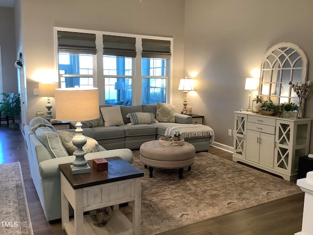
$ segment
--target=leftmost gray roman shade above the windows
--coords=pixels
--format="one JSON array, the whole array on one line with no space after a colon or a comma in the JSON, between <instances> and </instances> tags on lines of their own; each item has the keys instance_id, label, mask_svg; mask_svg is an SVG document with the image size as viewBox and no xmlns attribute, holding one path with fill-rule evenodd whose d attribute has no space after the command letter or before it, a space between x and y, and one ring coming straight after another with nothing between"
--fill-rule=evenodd
<instances>
[{"instance_id":1,"label":"leftmost gray roman shade above the windows","mask_svg":"<svg viewBox=\"0 0 313 235\"><path fill-rule=\"evenodd\" d=\"M73 54L96 54L96 35L58 31L58 50Z\"/></svg>"}]
</instances>

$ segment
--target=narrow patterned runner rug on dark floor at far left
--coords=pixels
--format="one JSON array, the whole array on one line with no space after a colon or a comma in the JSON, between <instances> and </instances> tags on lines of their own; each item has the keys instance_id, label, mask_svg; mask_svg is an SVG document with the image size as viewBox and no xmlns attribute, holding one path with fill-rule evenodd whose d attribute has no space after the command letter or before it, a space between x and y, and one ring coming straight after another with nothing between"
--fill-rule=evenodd
<instances>
[{"instance_id":1,"label":"narrow patterned runner rug on dark floor at far left","mask_svg":"<svg viewBox=\"0 0 313 235\"><path fill-rule=\"evenodd\" d=\"M0 234L33 235L19 162L0 164Z\"/></svg>"}]
</instances>

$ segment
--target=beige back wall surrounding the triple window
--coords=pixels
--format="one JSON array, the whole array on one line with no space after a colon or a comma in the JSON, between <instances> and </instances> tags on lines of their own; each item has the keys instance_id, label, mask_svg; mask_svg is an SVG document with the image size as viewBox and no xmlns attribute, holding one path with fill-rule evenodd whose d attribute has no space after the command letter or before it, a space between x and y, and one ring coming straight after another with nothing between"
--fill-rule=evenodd
<instances>
[{"instance_id":1,"label":"beige back wall surrounding the triple window","mask_svg":"<svg viewBox=\"0 0 313 235\"><path fill-rule=\"evenodd\" d=\"M54 26L173 37L174 87L183 75L183 0L29 0L22 1L22 15L29 120L36 111L45 111L46 99L33 94L38 71L51 71L58 79L53 73ZM174 97L177 93L175 89ZM174 98L173 104L179 106L180 97L178 101Z\"/></svg>"}]
</instances>

